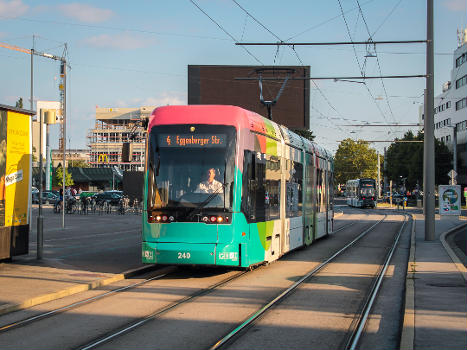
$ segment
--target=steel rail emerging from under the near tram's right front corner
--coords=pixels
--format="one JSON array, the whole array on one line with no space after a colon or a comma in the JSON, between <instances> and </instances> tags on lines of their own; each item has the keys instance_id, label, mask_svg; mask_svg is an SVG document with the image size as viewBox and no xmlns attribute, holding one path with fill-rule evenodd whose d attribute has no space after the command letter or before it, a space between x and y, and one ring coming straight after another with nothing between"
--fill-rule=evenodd
<instances>
[{"instance_id":1,"label":"steel rail emerging from under the near tram's right front corner","mask_svg":"<svg viewBox=\"0 0 467 350\"><path fill-rule=\"evenodd\" d=\"M210 287L207 287L207 288L203 288L201 289L200 291L196 292L196 293L193 293L179 301L176 301L172 304L169 304L165 307L163 307L162 309L159 309L143 318L141 318L139 321L136 321L136 322L133 322L133 323L130 323L129 325L126 325L125 327L123 328L120 328L118 329L117 331L115 331L115 333L111 333L105 337L101 337L101 338L98 338L96 340L93 340L92 342L89 342L88 344L84 345L84 346L81 346L79 347L78 349L79 350L89 350L89 349L94 349L95 347L99 346L99 345L102 345L104 343L107 343L109 342L110 340L120 336L120 335L123 335L125 333L128 333L129 331L137 328L137 327L140 327L142 325L144 325L145 323L149 322L149 321L152 321L153 319L155 319L156 317L170 311L170 310L173 310L175 308L177 308L178 306L180 305L183 305L185 304L186 302L190 301L190 300L193 300L197 297L200 297L200 296L203 296L209 292L211 292L212 290L232 281L232 280L235 280L241 276L243 276L244 274L248 273L249 271L242 271L240 273L237 273L235 274L234 276L231 276L229 278L226 278L224 279L223 281L220 281L220 282L217 282L215 284L213 284L212 286Z\"/></svg>"}]
</instances>

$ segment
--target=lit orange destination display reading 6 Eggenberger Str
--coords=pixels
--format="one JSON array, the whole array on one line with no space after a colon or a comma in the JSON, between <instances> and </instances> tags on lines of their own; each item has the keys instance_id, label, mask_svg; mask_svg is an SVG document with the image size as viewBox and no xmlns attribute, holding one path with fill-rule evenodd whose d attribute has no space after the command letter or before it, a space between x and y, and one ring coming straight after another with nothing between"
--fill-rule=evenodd
<instances>
[{"instance_id":1,"label":"lit orange destination display reading 6 Eggenberger Str","mask_svg":"<svg viewBox=\"0 0 467 350\"><path fill-rule=\"evenodd\" d=\"M159 134L160 147L170 148L225 148L226 134Z\"/></svg>"}]
</instances>

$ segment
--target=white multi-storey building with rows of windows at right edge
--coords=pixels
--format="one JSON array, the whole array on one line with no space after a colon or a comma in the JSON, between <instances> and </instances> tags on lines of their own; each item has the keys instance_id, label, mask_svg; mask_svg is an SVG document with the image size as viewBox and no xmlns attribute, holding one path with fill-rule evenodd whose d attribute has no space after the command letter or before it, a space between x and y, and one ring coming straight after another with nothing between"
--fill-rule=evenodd
<instances>
[{"instance_id":1,"label":"white multi-storey building with rows of windows at right edge","mask_svg":"<svg viewBox=\"0 0 467 350\"><path fill-rule=\"evenodd\" d=\"M458 32L454 50L451 80L443 84L443 92L434 99L435 138L452 151L454 132L457 137L457 183L467 184L467 29ZM423 107L421 108L423 124ZM449 169L447 169L449 170Z\"/></svg>"}]
</instances>

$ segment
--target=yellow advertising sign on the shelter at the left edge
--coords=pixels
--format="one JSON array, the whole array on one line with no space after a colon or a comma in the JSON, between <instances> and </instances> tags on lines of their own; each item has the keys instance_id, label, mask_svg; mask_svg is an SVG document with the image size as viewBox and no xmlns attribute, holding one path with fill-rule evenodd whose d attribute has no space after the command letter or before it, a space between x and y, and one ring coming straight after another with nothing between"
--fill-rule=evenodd
<instances>
[{"instance_id":1,"label":"yellow advertising sign on the shelter at the left edge","mask_svg":"<svg viewBox=\"0 0 467 350\"><path fill-rule=\"evenodd\" d=\"M5 171L5 226L27 225L30 116L8 111Z\"/></svg>"}]
</instances>

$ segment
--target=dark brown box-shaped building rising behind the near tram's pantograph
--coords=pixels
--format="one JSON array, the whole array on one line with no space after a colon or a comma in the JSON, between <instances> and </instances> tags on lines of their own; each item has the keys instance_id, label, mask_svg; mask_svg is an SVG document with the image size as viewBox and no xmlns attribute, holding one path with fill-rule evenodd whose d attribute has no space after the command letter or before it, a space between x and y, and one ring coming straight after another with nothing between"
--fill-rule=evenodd
<instances>
[{"instance_id":1,"label":"dark brown box-shaped building rising behind the near tram's pantograph","mask_svg":"<svg viewBox=\"0 0 467 350\"><path fill-rule=\"evenodd\" d=\"M243 107L267 118L267 108L260 102L257 69L268 69L263 81L266 101L276 98L285 78L284 69L293 70L276 105L272 120L291 129L310 127L310 66L188 66L188 104L221 104ZM282 69L282 71L281 71Z\"/></svg>"}]
</instances>

